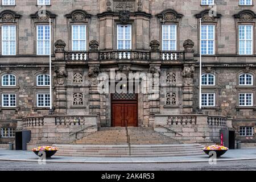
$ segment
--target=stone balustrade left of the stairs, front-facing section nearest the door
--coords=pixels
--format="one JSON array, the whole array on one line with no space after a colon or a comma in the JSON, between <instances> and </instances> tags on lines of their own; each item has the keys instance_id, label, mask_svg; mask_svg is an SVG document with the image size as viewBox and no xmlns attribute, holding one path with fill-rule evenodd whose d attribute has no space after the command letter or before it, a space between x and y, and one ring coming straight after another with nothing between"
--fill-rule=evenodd
<instances>
[{"instance_id":1,"label":"stone balustrade left of the stairs, front-facing section nearest the door","mask_svg":"<svg viewBox=\"0 0 256 182\"><path fill-rule=\"evenodd\" d=\"M85 125L88 123L86 115L56 115L55 125Z\"/></svg>"}]
</instances>

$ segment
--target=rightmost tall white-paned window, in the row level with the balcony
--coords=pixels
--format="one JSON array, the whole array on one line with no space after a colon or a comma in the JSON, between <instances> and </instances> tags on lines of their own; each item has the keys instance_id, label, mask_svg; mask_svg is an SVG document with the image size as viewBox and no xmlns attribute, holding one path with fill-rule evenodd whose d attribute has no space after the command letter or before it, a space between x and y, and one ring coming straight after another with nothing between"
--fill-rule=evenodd
<instances>
[{"instance_id":1,"label":"rightmost tall white-paned window, in the row level with the balcony","mask_svg":"<svg viewBox=\"0 0 256 182\"><path fill-rule=\"evenodd\" d=\"M240 25L238 26L239 36L239 54L252 55L253 54L253 26Z\"/></svg>"}]
</instances>

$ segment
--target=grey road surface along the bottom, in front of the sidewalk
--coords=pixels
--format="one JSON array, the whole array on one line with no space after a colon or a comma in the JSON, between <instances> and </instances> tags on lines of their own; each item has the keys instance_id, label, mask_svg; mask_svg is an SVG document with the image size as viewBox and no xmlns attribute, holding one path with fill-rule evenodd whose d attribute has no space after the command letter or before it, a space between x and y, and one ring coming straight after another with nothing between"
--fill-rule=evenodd
<instances>
[{"instance_id":1,"label":"grey road surface along the bottom, in front of the sidewalk","mask_svg":"<svg viewBox=\"0 0 256 182\"><path fill-rule=\"evenodd\" d=\"M188 171L188 170L256 170L256 160L239 160L228 162L217 162L216 165L204 163L171 163L171 164L65 164L65 163L46 163L38 164L35 162L9 162L0 161L0 171L3 170L68 170L68 171L108 171L108 170L174 170L174 171Z\"/></svg>"}]
</instances>

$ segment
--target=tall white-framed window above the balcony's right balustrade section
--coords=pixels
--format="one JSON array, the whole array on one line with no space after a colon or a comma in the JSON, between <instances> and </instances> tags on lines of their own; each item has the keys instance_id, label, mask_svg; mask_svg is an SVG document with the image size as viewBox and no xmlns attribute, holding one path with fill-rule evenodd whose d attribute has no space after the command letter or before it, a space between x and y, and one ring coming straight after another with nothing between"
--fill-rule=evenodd
<instances>
[{"instance_id":1,"label":"tall white-framed window above the balcony's right balustrade section","mask_svg":"<svg viewBox=\"0 0 256 182\"><path fill-rule=\"evenodd\" d=\"M176 51L177 49L177 26L176 24L162 25L163 51Z\"/></svg>"}]
</instances>

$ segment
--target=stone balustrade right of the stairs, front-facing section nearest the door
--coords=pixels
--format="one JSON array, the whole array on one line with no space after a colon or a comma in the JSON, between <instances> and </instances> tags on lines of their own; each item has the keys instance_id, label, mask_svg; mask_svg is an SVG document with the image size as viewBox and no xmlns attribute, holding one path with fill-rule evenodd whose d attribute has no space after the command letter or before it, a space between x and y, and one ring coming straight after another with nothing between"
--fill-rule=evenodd
<instances>
[{"instance_id":1,"label":"stone balustrade right of the stairs, front-facing section nearest the door","mask_svg":"<svg viewBox=\"0 0 256 182\"><path fill-rule=\"evenodd\" d=\"M167 125L196 125L196 115L169 115Z\"/></svg>"}]
</instances>

